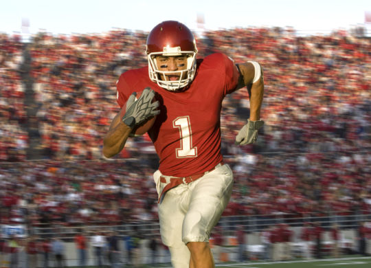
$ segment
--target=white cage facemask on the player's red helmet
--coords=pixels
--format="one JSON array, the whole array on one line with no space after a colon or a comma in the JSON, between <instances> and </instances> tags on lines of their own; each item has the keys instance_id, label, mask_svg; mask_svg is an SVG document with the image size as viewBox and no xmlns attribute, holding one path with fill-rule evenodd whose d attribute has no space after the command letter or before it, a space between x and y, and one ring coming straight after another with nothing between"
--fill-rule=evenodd
<instances>
[{"instance_id":1,"label":"white cage facemask on the player's red helmet","mask_svg":"<svg viewBox=\"0 0 371 268\"><path fill-rule=\"evenodd\" d=\"M164 47L163 52L153 52L148 54L148 71L150 80L156 82L157 85L169 91L177 91L186 87L192 82L196 73L196 53L197 51L181 51L181 47ZM186 69L179 71L160 71L157 67L157 56L187 56ZM168 80L166 75L177 74L178 80ZM164 78L164 79L161 79Z\"/></svg>"}]
</instances>

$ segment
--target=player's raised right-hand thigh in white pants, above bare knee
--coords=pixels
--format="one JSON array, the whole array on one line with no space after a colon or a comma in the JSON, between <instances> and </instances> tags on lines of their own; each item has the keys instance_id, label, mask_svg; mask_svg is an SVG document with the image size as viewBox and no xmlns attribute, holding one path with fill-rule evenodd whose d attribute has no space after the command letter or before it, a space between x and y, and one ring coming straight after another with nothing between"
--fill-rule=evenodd
<instances>
[{"instance_id":1,"label":"player's raised right-hand thigh in white pants, above bare knee","mask_svg":"<svg viewBox=\"0 0 371 268\"><path fill-rule=\"evenodd\" d=\"M195 182L183 222L184 243L209 241L232 194L232 170L223 165Z\"/></svg>"}]
</instances>

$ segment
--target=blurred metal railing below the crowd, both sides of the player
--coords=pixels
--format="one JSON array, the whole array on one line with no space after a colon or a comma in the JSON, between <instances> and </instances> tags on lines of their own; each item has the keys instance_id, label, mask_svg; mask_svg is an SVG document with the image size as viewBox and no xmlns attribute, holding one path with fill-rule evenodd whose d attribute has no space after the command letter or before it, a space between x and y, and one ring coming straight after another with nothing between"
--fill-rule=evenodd
<instances>
[{"instance_id":1,"label":"blurred metal railing below the crowd, both sides of the player","mask_svg":"<svg viewBox=\"0 0 371 268\"><path fill-rule=\"evenodd\" d=\"M350 213L350 212L349 212ZM218 225L223 228L225 235L233 235L238 225L243 225L245 232L261 232L267 227L286 223L290 227L302 227L304 223L321 223L322 227L330 228L333 223L342 229L355 229L361 221L371 221L371 214L347 214L340 212L339 214L331 213L322 216L295 216L294 214L275 214L275 215L252 215L252 216L223 216ZM142 236L150 237L159 234L158 221L138 221L132 223L122 223L120 225L76 225L65 226L59 224L38 225L30 227L29 233L35 234L40 238L44 237L60 237L63 240L69 241L74 236L83 230L87 236L102 232L108 233L115 231L120 236L133 234L137 232Z\"/></svg>"}]
</instances>

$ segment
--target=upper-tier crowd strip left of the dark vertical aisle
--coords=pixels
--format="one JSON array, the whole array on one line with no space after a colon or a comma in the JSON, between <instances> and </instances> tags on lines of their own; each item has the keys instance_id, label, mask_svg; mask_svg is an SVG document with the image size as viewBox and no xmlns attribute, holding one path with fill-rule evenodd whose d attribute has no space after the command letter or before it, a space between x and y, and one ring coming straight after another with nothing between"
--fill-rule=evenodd
<instances>
[{"instance_id":1,"label":"upper-tier crowd strip left of the dark vertical aisle","mask_svg":"<svg viewBox=\"0 0 371 268\"><path fill-rule=\"evenodd\" d=\"M26 159L28 133L20 36L0 34L0 161Z\"/></svg>"}]
</instances>

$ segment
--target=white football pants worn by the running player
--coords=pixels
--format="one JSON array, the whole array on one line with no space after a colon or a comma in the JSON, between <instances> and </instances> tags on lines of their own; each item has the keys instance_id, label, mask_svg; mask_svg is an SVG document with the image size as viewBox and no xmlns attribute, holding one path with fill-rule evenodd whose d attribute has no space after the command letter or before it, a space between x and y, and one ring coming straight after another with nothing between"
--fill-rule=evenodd
<instances>
[{"instance_id":1,"label":"white football pants worn by the running player","mask_svg":"<svg viewBox=\"0 0 371 268\"><path fill-rule=\"evenodd\" d=\"M153 177L159 187L161 172ZM190 251L188 242L208 242L212 228L218 223L232 194L233 174L227 164L191 183L177 186L166 192L159 203L161 238L168 246L172 266L188 268Z\"/></svg>"}]
</instances>

